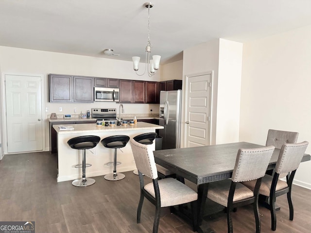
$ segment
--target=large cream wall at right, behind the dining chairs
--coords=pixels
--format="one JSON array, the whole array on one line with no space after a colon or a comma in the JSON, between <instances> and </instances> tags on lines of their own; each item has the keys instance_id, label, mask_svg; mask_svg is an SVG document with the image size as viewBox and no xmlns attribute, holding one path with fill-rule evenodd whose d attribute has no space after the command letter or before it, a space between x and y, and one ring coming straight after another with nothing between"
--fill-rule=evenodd
<instances>
[{"instance_id":1,"label":"large cream wall at right, behind the dining chairs","mask_svg":"<svg viewBox=\"0 0 311 233\"><path fill-rule=\"evenodd\" d=\"M311 26L243 45L240 141L264 145L276 129L311 143L310 41ZM302 163L294 183L311 188L310 170Z\"/></svg>"}]
</instances>

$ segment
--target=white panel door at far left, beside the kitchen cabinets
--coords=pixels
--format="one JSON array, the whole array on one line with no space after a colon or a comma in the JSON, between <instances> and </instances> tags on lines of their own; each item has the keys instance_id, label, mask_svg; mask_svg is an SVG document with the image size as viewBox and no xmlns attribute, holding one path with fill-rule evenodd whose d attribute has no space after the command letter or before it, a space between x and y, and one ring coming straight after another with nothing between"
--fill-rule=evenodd
<instances>
[{"instance_id":1,"label":"white panel door at far left, beside the kitchen cabinets","mask_svg":"<svg viewBox=\"0 0 311 233\"><path fill-rule=\"evenodd\" d=\"M42 150L41 77L5 75L8 153Z\"/></svg>"}]
</instances>

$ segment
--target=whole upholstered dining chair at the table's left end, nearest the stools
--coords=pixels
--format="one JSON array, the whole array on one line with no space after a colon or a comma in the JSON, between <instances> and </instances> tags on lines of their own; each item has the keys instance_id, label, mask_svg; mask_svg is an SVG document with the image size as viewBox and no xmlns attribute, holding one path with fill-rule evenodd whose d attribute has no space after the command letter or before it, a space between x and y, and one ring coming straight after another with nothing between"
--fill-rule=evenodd
<instances>
[{"instance_id":1,"label":"whole upholstered dining chair at the table's left end, nearest the stools","mask_svg":"<svg viewBox=\"0 0 311 233\"><path fill-rule=\"evenodd\" d=\"M137 208L137 223L140 223L140 214L144 198L155 205L153 233L157 233L161 207L181 205L190 202L192 212L193 231L197 231L197 199L198 195L190 187L173 178L158 180L155 166L155 157L150 146L130 139L140 182L140 198ZM152 183L144 184L143 175L152 179Z\"/></svg>"}]
</instances>

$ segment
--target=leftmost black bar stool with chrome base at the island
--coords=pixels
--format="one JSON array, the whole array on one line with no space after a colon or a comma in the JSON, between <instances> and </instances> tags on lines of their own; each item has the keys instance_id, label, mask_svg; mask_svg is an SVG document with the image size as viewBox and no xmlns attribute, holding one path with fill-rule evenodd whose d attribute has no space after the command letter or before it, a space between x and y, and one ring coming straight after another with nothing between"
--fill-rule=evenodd
<instances>
[{"instance_id":1,"label":"leftmost black bar stool with chrome base at the island","mask_svg":"<svg viewBox=\"0 0 311 233\"><path fill-rule=\"evenodd\" d=\"M95 180L92 178L86 179L86 166L92 166L91 164L86 164L86 149L91 149L96 147L101 138L99 136L87 135L74 137L68 140L67 144L72 149L83 150L82 165L76 165L74 167L82 167L82 179L77 179L72 182L72 185L77 187L85 187L95 183Z\"/></svg>"}]
</instances>

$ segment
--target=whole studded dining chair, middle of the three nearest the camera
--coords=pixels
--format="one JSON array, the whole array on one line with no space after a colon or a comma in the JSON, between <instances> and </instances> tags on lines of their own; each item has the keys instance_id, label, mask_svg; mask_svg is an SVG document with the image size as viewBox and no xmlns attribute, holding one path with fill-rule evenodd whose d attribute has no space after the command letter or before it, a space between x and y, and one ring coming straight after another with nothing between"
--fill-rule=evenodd
<instances>
[{"instance_id":1,"label":"whole studded dining chair, middle of the three nearest the camera","mask_svg":"<svg viewBox=\"0 0 311 233\"><path fill-rule=\"evenodd\" d=\"M275 147L239 149L232 178L208 184L207 198L226 207L228 233L233 232L231 211L239 206L253 203L256 233L260 233L258 196L261 178L269 165ZM254 191L239 182L253 180Z\"/></svg>"}]
</instances>

